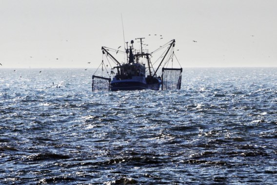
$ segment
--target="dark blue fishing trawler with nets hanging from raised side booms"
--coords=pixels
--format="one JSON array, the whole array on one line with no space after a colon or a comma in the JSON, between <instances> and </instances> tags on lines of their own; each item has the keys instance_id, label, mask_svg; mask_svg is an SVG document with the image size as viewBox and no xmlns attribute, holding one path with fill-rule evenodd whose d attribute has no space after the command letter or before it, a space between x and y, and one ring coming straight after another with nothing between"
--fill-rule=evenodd
<instances>
[{"instance_id":1,"label":"dark blue fishing trawler with nets hanging from raised side booms","mask_svg":"<svg viewBox=\"0 0 277 185\"><path fill-rule=\"evenodd\" d=\"M92 76L92 91L120 91L120 90L174 90L181 88L182 68L173 68L175 40L160 46L155 51L149 53L148 49L144 49L143 39L139 40L140 48L137 50L134 48L134 41L131 41L131 45L128 46L126 42L125 52L118 49L112 49L102 46L103 59L106 58L106 62L102 59L98 69ZM156 52L165 48L162 53L163 56L159 57L160 62L156 69L151 62L151 57ZM111 52L123 53L126 56L126 60L119 62ZM112 60L116 66L111 66ZM176 58L177 60L177 58ZM177 60L178 61L178 60ZM171 63L171 68L168 67ZM110 65L110 71L108 66ZM161 67L162 66L162 67ZM101 67L101 75L97 74ZM106 70L106 72L105 72ZM161 72L161 75L158 75ZM97 75L96 75L97 74Z\"/></svg>"}]
</instances>

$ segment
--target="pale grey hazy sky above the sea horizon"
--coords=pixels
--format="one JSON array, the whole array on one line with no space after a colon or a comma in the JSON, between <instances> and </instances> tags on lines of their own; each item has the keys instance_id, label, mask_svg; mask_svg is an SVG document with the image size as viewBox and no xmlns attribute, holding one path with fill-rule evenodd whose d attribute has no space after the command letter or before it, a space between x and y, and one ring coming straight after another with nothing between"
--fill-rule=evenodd
<instances>
[{"instance_id":1,"label":"pale grey hazy sky above the sea horizon","mask_svg":"<svg viewBox=\"0 0 277 185\"><path fill-rule=\"evenodd\" d=\"M121 14L125 41L175 39L182 67L277 67L277 0L0 0L0 67L97 67Z\"/></svg>"}]
</instances>

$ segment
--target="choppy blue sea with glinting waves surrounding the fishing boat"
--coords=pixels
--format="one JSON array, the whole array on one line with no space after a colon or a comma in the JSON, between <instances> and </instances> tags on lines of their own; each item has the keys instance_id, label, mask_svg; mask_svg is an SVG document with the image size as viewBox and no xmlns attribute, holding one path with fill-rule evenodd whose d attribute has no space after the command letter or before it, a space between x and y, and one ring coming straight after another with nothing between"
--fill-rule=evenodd
<instances>
[{"instance_id":1,"label":"choppy blue sea with glinting waves surrounding the fishing boat","mask_svg":"<svg viewBox=\"0 0 277 185\"><path fill-rule=\"evenodd\" d=\"M97 93L92 72L0 70L0 184L277 184L277 68Z\"/></svg>"}]
</instances>

